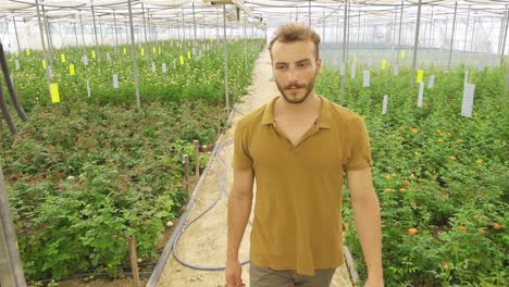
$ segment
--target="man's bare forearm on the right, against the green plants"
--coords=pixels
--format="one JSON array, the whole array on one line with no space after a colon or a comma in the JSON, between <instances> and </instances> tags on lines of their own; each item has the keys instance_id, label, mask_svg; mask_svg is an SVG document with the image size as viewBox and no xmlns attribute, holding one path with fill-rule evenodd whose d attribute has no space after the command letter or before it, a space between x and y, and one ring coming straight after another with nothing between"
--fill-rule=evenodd
<instances>
[{"instance_id":1,"label":"man's bare forearm on the right, against the green plants","mask_svg":"<svg viewBox=\"0 0 509 287\"><path fill-rule=\"evenodd\" d=\"M352 200L353 219L368 266L368 276L382 278L382 223L380 204L374 191Z\"/></svg>"}]
</instances>

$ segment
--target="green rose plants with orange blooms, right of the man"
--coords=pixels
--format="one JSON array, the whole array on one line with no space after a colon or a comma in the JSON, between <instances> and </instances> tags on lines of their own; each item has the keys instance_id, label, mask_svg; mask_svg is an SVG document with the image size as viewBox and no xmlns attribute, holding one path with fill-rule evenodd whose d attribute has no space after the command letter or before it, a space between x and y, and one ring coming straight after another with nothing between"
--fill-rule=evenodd
<instances>
[{"instance_id":1,"label":"green rose plants with orange blooms, right of the man","mask_svg":"<svg viewBox=\"0 0 509 287\"><path fill-rule=\"evenodd\" d=\"M465 71L476 85L472 117L461 115ZM419 84L411 87L405 68L397 76L393 70L372 68L371 87L348 75L344 91L337 71L324 71L318 82L320 93L365 118L382 210L386 286L508 285L506 73L468 66L425 71L422 108L417 105ZM436 80L429 88L431 75ZM346 245L365 279L349 208L344 219Z\"/></svg>"}]
</instances>

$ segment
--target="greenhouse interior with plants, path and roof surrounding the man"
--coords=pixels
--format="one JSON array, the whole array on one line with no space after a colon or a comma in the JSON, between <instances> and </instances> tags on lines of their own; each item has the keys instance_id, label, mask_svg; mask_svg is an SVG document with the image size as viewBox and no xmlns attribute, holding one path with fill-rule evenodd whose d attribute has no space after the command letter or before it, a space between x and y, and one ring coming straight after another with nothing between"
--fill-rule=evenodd
<instances>
[{"instance_id":1,"label":"greenhouse interior with plants, path and roof surrounding the man","mask_svg":"<svg viewBox=\"0 0 509 287\"><path fill-rule=\"evenodd\" d=\"M229 286L236 124L290 23L365 123L383 284L509 286L507 0L0 0L0 286ZM340 197L330 286L364 286Z\"/></svg>"}]
</instances>

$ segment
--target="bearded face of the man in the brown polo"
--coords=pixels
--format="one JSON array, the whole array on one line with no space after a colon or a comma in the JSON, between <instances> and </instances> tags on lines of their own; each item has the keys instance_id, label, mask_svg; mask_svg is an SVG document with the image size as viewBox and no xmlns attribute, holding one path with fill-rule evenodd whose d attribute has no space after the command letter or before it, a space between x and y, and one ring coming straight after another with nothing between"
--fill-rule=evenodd
<instances>
[{"instance_id":1,"label":"bearded face of the man in the brown polo","mask_svg":"<svg viewBox=\"0 0 509 287\"><path fill-rule=\"evenodd\" d=\"M272 72L288 103L301 103L309 97L321 68L322 60L315 59L312 41L275 41L272 46Z\"/></svg>"}]
</instances>

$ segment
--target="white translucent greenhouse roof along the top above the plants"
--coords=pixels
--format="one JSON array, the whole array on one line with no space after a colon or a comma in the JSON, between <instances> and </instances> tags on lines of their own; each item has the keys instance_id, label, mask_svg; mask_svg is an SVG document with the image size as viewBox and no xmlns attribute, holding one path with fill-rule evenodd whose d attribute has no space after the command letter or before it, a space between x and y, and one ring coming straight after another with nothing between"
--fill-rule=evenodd
<instances>
[{"instance_id":1,"label":"white translucent greenhouse roof along the top above the plants","mask_svg":"<svg viewBox=\"0 0 509 287\"><path fill-rule=\"evenodd\" d=\"M37 21L37 2L44 7L46 16L51 22L78 22L90 23L92 16L99 17L102 23L113 24L115 21L124 21L128 16L127 0L0 0L0 17L23 18L23 21ZM220 17L219 7L227 5L228 20L235 21L237 5L247 13L250 23L260 23L266 26L299 21L321 24L332 18L344 16L344 0L133 0L133 17L135 22L141 21L141 16L150 17L154 25L167 24L172 21L193 23L193 14L201 23L216 25ZM401 9L406 22L414 22L419 0L351 0L347 1L348 13L355 22L356 15L362 14L386 23ZM450 18L457 4L458 15L467 15L471 12L476 16L494 16L502 18L509 9L506 0L422 0L422 17L435 20ZM41 10L42 11L42 10ZM40 12L42 13L42 12Z\"/></svg>"}]
</instances>

